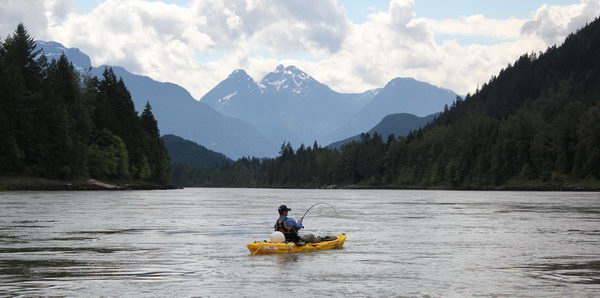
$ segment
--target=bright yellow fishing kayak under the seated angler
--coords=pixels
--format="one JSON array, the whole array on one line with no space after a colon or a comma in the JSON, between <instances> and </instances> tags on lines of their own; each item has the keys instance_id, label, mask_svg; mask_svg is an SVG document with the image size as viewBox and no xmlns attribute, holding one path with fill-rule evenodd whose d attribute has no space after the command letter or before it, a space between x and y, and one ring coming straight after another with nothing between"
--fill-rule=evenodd
<instances>
[{"instance_id":1,"label":"bright yellow fishing kayak under the seated angler","mask_svg":"<svg viewBox=\"0 0 600 298\"><path fill-rule=\"evenodd\" d=\"M295 243L256 241L248 244L248 250L250 251L251 255L265 255L340 249L344 247L344 241L346 241L346 237L346 234L342 234L336 236L335 240L323 241L319 243L307 243L305 245L296 245Z\"/></svg>"}]
</instances>

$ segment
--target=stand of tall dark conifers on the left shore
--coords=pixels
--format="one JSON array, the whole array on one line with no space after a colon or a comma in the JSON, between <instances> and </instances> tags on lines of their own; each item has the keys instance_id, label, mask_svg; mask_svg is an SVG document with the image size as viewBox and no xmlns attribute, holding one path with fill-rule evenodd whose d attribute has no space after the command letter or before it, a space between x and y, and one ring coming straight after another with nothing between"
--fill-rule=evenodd
<instances>
[{"instance_id":1,"label":"stand of tall dark conifers on the left shore","mask_svg":"<svg viewBox=\"0 0 600 298\"><path fill-rule=\"evenodd\" d=\"M39 55L23 25L0 45L0 135L1 177L168 181L150 105L138 116L110 68L82 78Z\"/></svg>"}]
</instances>

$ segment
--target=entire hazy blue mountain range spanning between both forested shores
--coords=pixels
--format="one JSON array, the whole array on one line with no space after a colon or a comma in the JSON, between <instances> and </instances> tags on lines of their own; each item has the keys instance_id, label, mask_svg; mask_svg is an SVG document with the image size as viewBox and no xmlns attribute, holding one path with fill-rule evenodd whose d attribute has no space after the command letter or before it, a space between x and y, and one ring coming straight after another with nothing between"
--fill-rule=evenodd
<instances>
[{"instance_id":1,"label":"entire hazy blue mountain range spanning between both forested shores","mask_svg":"<svg viewBox=\"0 0 600 298\"><path fill-rule=\"evenodd\" d=\"M101 76L109 67L93 67L86 54L60 43L36 43L49 59L64 53L90 76ZM198 101L179 85L112 68L138 112L146 102L152 105L162 134L183 137L232 159L275 156L282 142L329 144L369 131L389 114L425 116L456 98L450 90L409 78L396 78L381 89L340 93L295 66L279 65L259 82L235 70Z\"/></svg>"}]
</instances>

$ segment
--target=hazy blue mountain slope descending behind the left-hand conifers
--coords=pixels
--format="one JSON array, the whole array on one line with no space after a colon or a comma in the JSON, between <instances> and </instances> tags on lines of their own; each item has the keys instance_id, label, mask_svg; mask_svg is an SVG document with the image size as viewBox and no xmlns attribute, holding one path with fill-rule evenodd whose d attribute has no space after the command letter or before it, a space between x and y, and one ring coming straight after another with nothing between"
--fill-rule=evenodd
<instances>
[{"instance_id":1,"label":"hazy blue mountain slope descending behind the left-hand conifers","mask_svg":"<svg viewBox=\"0 0 600 298\"><path fill-rule=\"evenodd\" d=\"M63 52L78 69L89 68L89 57L79 50L66 49L54 42L37 42L38 49L50 58ZM86 59L87 58L87 59ZM74 63L75 64L75 63ZM106 66L92 68L88 74L99 76ZM196 101L179 85L157 82L150 77L135 75L122 67L113 67L131 93L136 110L150 102L162 134L175 134L193 140L231 158L242 156L273 156L278 145L270 142L252 125L225 117L210 106Z\"/></svg>"}]
</instances>

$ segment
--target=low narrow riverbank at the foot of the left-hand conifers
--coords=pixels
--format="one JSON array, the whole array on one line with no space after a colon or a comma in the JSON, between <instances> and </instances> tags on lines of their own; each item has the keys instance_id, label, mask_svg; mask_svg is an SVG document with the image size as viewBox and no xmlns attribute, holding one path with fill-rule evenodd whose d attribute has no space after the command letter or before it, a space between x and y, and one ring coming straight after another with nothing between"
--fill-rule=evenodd
<instances>
[{"instance_id":1,"label":"low narrow riverbank at the foot of the left-hand conifers","mask_svg":"<svg viewBox=\"0 0 600 298\"><path fill-rule=\"evenodd\" d=\"M1 177L0 191L27 190L154 190L177 189L173 185L160 185L140 181L99 181L96 179L52 180L29 177Z\"/></svg>"}]
</instances>

